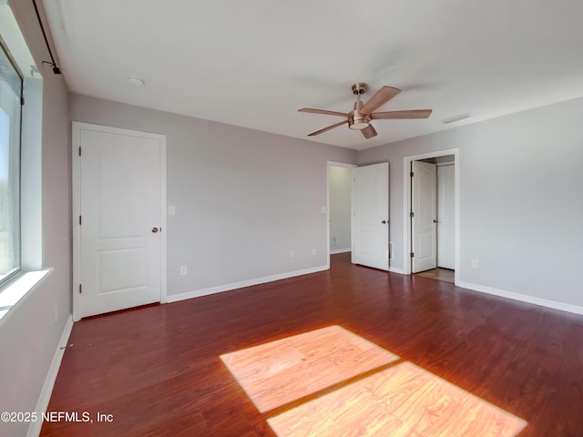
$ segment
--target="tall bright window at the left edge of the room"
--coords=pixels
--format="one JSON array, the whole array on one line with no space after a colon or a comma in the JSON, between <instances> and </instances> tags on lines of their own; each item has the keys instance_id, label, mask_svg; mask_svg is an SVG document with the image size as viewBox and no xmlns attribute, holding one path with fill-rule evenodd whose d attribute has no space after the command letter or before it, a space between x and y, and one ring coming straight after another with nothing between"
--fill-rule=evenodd
<instances>
[{"instance_id":1,"label":"tall bright window at the left edge of the room","mask_svg":"<svg viewBox=\"0 0 583 437\"><path fill-rule=\"evenodd\" d=\"M20 137L23 77L0 42L0 284L21 269Z\"/></svg>"}]
</instances>

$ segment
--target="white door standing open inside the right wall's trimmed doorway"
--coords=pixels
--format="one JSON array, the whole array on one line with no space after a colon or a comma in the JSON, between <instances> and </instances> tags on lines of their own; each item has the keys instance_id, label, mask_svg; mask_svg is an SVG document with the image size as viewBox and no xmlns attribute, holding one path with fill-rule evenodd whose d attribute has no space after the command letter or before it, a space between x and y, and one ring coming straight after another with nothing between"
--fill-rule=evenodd
<instances>
[{"instance_id":1,"label":"white door standing open inside the right wall's trimmed doorway","mask_svg":"<svg viewBox=\"0 0 583 437\"><path fill-rule=\"evenodd\" d=\"M437 233L435 231L437 194L436 166L426 162L412 162L412 271L435 269L437 267Z\"/></svg>"}]
</instances>

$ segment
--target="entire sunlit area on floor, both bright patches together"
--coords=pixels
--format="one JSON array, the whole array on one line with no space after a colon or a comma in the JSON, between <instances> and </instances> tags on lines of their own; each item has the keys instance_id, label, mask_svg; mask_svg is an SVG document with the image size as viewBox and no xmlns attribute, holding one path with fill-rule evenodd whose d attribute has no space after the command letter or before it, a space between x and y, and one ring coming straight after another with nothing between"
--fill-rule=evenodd
<instances>
[{"instance_id":1,"label":"entire sunlit area on floor, both bright patches together","mask_svg":"<svg viewBox=\"0 0 583 437\"><path fill-rule=\"evenodd\" d=\"M513 437L527 426L336 325L220 359L279 437Z\"/></svg>"}]
</instances>

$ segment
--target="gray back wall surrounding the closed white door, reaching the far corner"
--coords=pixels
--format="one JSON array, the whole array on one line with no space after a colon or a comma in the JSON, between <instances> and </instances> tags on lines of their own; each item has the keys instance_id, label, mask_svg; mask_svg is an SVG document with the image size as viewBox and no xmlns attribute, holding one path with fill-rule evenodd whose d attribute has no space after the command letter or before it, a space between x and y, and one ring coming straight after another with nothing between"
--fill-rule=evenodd
<instances>
[{"instance_id":1,"label":"gray back wall surrounding the closed white door, reaching the far corner","mask_svg":"<svg viewBox=\"0 0 583 437\"><path fill-rule=\"evenodd\" d=\"M167 136L169 296L327 264L327 161L355 151L93 97L71 95L69 108Z\"/></svg>"}]
</instances>

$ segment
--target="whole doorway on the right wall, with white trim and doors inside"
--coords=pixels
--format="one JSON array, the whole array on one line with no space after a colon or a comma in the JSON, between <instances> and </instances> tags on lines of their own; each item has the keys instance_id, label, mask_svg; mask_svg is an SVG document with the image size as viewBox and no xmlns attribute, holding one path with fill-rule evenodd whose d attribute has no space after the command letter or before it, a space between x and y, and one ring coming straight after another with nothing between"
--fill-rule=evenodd
<instances>
[{"instance_id":1,"label":"whole doorway on the right wall, with white trim and doors inside","mask_svg":"<svg viewBox=\"0 0 583 437\"><path fill-rule=\"evenodd\" d=\"M405 273L457 283L458 149L404 158Z\"/></svg>"}]
</instances>

